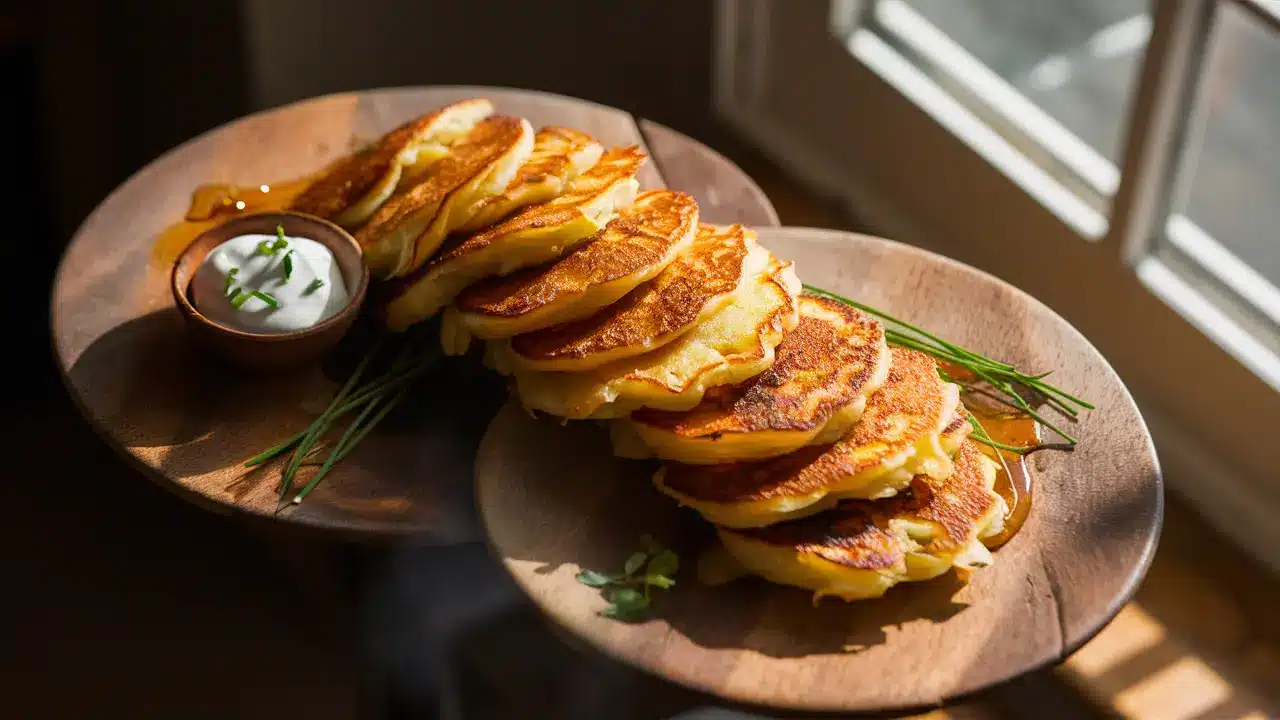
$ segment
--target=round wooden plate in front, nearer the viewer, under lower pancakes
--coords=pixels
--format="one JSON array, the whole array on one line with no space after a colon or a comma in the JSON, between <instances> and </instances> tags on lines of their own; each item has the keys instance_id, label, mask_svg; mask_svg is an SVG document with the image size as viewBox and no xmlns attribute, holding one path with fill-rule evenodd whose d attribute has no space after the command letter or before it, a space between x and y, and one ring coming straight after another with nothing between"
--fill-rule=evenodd
<instances>
[{"instance_id":1,"label":"round wooden plate in front, nearer the viewer, under lower pancakes","mask_svg":"<svg viewBox=\"0 0 1280 720\"><path fill-rule=\"evenodd\" d=\"M968 585L954 574L874 601L826 600L760 580L700 587L710 533L649 483L649 464L613 459L591 423L534 420L508 404L476 460L480 512L517 583L556 623L608 655L748 706L906 712L1057 662L1133 594L1156 548L1160 469L1138 409L1089 342L1052 310L986 273L905 245L836 231L762 228L801 279L1030 370L1097 405L1074 452L1032 456L1027 524ZM599 615L581 568L616 571L639 537L686 568L654 619Z\"/></svg>"}]
</instances>

